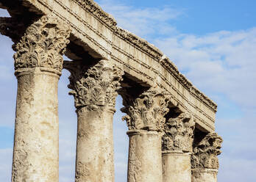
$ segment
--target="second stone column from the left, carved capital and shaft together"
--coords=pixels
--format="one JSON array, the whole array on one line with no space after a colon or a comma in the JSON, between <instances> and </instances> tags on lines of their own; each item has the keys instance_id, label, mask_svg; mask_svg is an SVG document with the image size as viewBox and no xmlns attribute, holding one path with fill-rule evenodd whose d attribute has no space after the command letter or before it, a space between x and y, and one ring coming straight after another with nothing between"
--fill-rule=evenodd
<instances>
[{"instance_id":1,"label":"second stone column from the left, carved capital and shaft together","mask_svg":"<svg viewBox=\"0 0 256 182\"><path fill-rule=\"evenodd\" d=\"M123 73L110 61L65 62L77 108L76 182L114 181L113 114Z\"/></svg>"}]
</instances>

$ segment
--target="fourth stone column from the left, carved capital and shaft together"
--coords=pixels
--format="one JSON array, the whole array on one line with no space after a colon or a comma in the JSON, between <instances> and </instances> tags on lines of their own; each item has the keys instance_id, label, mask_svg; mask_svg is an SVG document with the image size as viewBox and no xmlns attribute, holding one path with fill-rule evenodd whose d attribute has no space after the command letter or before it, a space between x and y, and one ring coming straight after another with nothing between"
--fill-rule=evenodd
<instances>
[{"instance_id":1,"label":"fourth stone column from the left, carved capital and shaft together","mask_svg":"<svg viewBox=\"0 0 256 182\"><path fill-rule=\"evenodd\" d=\"M163 135L163 182L191 182L191 152L195 122L182 113L166 121Z\"/></svg>"}]
</instances>

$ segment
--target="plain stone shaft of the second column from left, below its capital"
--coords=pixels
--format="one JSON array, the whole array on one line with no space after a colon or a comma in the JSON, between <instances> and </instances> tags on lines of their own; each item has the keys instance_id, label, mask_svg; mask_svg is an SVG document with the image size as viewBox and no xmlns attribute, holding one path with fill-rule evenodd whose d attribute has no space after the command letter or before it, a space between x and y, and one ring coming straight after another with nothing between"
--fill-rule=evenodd
<instances>
[{"instance_id":1,"label":"plain stone shaft of the second column from left, below its capital","mask_svg":"<svg viewBox=\"0 0 256 182\"><path fill-rule=\"evenodd\" d=\"M114 181L113 111L77 110L76 182Z\"/></svg>"}]
</instances>

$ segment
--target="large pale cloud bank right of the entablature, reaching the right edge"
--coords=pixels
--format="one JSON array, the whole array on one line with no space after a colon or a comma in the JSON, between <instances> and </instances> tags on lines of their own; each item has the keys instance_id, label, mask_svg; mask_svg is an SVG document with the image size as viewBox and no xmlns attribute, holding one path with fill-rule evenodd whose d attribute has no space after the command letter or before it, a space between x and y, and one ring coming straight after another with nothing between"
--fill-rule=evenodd
<instances>
[{"instance_id":1,"label":"large pale cloud bank right of the entablature, reaching the right edge","mask_svg":"<svg viewBox=\"0 0 256 182\"><path fill-rule=\"evenodd\" d=\"M202 90L221 92L241 108L256 107L256 28L154 40Z\"/></svg>"}]
</instances>

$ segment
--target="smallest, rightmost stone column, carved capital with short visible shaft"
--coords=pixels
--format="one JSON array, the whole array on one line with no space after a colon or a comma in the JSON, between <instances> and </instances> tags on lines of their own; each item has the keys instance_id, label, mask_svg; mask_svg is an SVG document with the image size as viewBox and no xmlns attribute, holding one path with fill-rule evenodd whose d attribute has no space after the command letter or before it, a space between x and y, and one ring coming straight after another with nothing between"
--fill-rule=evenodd
<instances>
[{"instance_id":1,"label":"smallest, rightmost stone column, carved capital with short visible shaft","mask_svg":"<svg viewBox=\"0 0 256 182\"><path fill-rule=\"evenodd\" d=\"M221 142L221 136L210 133L193 147L192 182L217 182L217 156L221 154Z\"/></svg>"}]
</instances>

